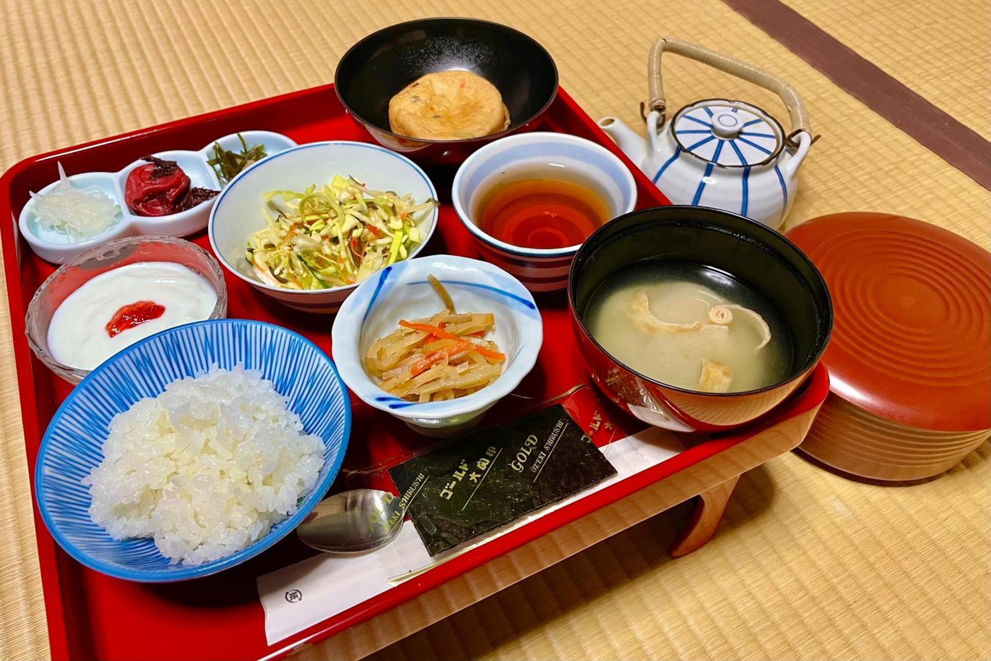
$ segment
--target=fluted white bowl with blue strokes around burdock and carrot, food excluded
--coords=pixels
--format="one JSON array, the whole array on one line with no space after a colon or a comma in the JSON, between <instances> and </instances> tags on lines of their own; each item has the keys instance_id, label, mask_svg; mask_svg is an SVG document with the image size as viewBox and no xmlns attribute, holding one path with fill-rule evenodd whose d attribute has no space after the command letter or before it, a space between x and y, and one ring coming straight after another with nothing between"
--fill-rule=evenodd
<instances>
[{"instance_id":1,"label":"fluted white bowl with blue strokes around burdock and carrot, food excluded","mask_svg":"<svg viewBox=\"0 0 991 661\"><path fill-rule=\"evenodd\" d=\"M491 312L486 335L506 355L502 375L481 390L443 402L408 402L389 395L365 371L363 357L400 319L430 317L444 304L427 281L433 275L458 312ZM361 284L341 306L331 331L331 352L341 378L363 402L405 422L424 436L450 436L477 424L533 368L543 343L543 322L533 297L502 269L467 257L435 255L386 267Z\"/></svg>"}]
</instances>

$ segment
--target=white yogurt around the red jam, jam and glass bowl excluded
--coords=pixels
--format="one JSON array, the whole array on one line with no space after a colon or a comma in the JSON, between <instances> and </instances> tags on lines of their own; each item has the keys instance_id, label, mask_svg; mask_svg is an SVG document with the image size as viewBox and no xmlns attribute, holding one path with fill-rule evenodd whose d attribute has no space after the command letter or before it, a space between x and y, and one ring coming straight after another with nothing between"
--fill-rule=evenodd
<instances>
[{"instance_id":1,"label":"white yogurt around the red jam, jam and glass bowl excluded","mask_svg":"<svg viewBox=\"0 0 991 661\"><path fill-rule=\"evenodd\" d=\"M139 301L164 306L165 313L111 337L107 323ZM216 304L217 292L206 278L181 264L128 264L101 273L62 301L49 324L49 352L62 364L93 369L139 339L207 319Z\"/></svg>"}]
</instances>

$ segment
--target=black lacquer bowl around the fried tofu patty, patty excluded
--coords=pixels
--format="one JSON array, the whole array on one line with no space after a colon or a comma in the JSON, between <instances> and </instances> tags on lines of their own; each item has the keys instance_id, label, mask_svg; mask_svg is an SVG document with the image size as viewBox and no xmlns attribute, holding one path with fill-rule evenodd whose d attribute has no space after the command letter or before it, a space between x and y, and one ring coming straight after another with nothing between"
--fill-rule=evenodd
<instances>
[{"instance_id":1,"label":"black lacquer bowl around the fried tofu patty, patty excluded","mask_svg":"<svg viewBox=\"0 0 991 661\"><path fill-rule=\"evenodd\" d=\"M392 133L388 101L418 77L465 69L492 82L509 110L504 131L469 140L419 140ZM557 67L540 44L498 23L429 18L373 33L344 54L334 87L347 111L385 147L425 165L457 165L497 138L526 128L557 94Z\"/></svg>"}]
</instances>

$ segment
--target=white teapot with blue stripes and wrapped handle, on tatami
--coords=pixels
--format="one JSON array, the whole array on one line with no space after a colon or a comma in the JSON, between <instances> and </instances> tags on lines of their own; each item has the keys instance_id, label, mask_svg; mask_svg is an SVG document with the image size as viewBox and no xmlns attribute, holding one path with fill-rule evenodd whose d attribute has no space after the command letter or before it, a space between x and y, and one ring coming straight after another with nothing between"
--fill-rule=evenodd
<instances>
[{"instance_id":1,"label":"white teapot with blue stripes and wrapped handle, on tatami","mask_svg":"<svg viewBox=\"0 0 991 661\"><path fill-rule=\"evenodd\" d=\"M661 82L665 51L777 92L791 116L790 132L786 134L766 111L743 101L705 99L668 117ZM672 203L714 206L773 229L781 227L795 201L799 167L814 141L795 89L755 66L670 37L654 44L648 73L646 140L615 117L599 120L619 149ZM641 103L641 115L643 110Z\"/></svg>"}]
</instances>

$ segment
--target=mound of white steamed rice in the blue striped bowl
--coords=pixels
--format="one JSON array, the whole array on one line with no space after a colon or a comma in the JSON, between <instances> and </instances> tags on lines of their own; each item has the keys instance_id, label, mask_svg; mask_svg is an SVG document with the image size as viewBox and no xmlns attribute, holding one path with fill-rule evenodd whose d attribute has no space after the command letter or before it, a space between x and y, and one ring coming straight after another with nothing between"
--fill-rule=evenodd
<instances>
[{"instance_id":1,"label":"mound of white steamed rice in the blue striped bowl","mask_svg":"<svg viewBox=\"0 0 991 661\"><path fill-rule=\"evenodd\" d=\"M272 382L238 366L165 386L110 422L83 483L114 539L154 537L172 563L239 551L296 510L323 466L320 437Z\"/></svg>"}]
</instances>

